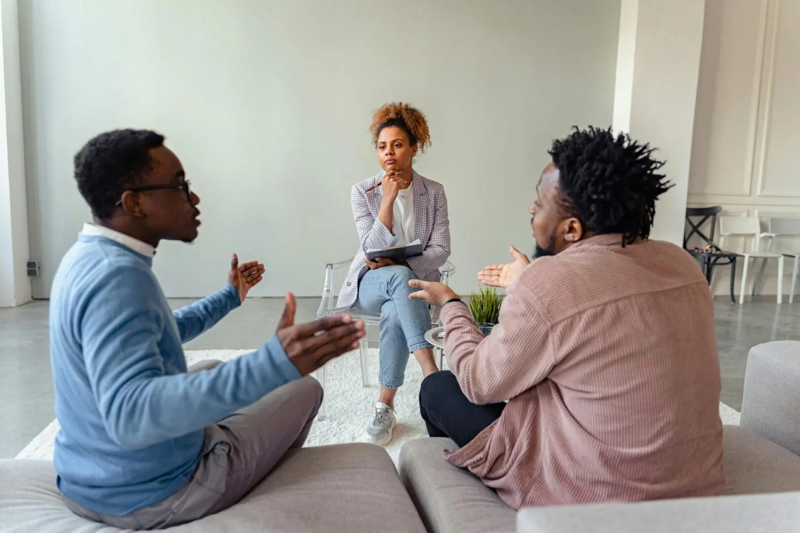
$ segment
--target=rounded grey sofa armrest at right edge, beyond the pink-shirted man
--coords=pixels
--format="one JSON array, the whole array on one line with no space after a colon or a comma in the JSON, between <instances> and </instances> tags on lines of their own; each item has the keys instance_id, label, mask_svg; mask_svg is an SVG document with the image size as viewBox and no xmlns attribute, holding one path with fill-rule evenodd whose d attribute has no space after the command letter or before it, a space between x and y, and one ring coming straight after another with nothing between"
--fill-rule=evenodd
<instances>
[{"instance_id":1,"label":"rounded grey sofa armrest at right edge, beyond the pink-shirted man","mask_svg":"<svg viewBox=\"0 0 800 533\"><path fill-rule=\"evenodd\" d=\"M800 455L800 341L750 349L740 424Z\"/></svg>"}]
</instances>

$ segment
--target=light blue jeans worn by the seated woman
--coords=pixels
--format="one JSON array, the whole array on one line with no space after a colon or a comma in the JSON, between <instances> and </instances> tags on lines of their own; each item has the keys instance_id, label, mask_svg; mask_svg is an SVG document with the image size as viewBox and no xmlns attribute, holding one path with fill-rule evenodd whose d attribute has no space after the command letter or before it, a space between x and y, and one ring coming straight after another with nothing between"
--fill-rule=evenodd
<instances>
[{"instance_id":1,"label":"light blue jeans worn by the seated woman","mask_svg":"<svg viewBox=\"0 0 800 533\"><path fill-rule=\"evenodd\" d=\"M381 316L380 383L399 388L406 376L410 352L430 348L425 332L430 329L428 304L411 300L416 289L408 281L417 279L410 268L387 266L366 272L358 284L355 308L364 314Z\"/></svg>"}]
</instances>

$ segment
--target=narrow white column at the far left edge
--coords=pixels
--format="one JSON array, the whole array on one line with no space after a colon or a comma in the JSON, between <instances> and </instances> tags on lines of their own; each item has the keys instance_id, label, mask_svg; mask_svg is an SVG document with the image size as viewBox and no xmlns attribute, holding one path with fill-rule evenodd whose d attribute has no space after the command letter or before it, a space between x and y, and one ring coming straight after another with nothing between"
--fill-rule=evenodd
<instances>
[{"instance_id":1,"label":"narrow white column at the far left edge","mask_svg":"<svg viewBox=\"0 0 800 533\"><path fill-rule=\"evenodd\" d=\"M17 0L0 2L0 307L30 300Z\"/></svg>"}]
</instances>

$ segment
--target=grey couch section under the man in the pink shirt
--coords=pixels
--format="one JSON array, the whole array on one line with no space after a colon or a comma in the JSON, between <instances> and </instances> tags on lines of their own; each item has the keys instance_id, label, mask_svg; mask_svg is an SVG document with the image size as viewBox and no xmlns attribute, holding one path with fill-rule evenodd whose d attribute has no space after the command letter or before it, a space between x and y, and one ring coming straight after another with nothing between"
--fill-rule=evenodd
<instances>
[{"instance_id":1,"label":"grey couch section under the man in the pink shirt","mask_svg":"<svg viewBox=\"0 0 800 533\"><path fill-rule=\"evenodd\" d=\"M741 426L723 430L724 496L523 509L442 459L446 439L414 440L400 477L432 533L800 531L800 342L760 344L747 360Z\"/></svg>"}]
</instances>

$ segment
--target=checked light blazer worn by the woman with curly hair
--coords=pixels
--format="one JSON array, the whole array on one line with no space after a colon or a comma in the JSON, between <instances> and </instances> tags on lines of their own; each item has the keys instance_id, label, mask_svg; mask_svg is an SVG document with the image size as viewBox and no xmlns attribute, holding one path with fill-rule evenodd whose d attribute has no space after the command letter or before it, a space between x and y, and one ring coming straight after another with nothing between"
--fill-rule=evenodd
<instances>
[{"instance_id":1,"label":"checked light blazer worn by the woman with curly hair","mask_svg":"<svg viewBox=\"0 0 800 533\"><path fill-rule=\"evenodd\" d=\"M353 185L350 191L350 205L361 247L350 265L342 290L339 291L337 311L353 307L358 298L358 282L370 268L364 263L365 250L386 248L394 241L394 227L390 231L378 219L383 188L378 187L364 193L372 185L380 183L385 174L382 170L376 176ZM415 170L413 176L411 187L414 188L414 238L419 239L425 251L421 256L410 257L408 264L420 279L438 281L439 267L450 257L450 220L447 218L445 188L436 181L420 176Z\"/></svg>"}]
</instances>

